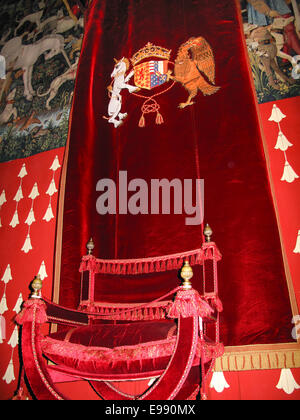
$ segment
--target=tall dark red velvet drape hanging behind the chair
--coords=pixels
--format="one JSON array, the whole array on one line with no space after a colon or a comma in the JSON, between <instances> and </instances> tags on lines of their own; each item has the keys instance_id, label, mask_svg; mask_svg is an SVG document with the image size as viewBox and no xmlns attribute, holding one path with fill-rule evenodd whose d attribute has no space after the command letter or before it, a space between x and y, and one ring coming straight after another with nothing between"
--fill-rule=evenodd
<instances>
[{"instance_id":1,"label":"tall dark red velvet drape hanging behind the chair","mask_svg":"<svg viewBox=\"0 0 300 420\"><path fill-rule=\"evenodd\" d=\"M61 304L78 304L78 268L90 236L100 258L151 257L201 246L202 226L187 226L185 214L100 216L100 179L118 185L120 170L127 171L128 180L142 178L148 185L155 178L202 178L205 221L223 254L221 339L227 345L291 340L280 241L238 14L232 0L92 2L70 127ZM216 94L199 92L195 104L181 110L178 104L188 93L176 83L157 98L164 123L157 125L155 114L149 114L140 128L143 101L124 91L125 123L114 128L102 118L107 115L114 58L130 58L151 42L171 49L174 61L180 45L192 36L203 36L214 51L220 86ZM199 290L200 272L195 269L194 287ZM96 296L138 302L178 285L174 271L131 280L99 275Z\"/></svg>"}]
</instances>

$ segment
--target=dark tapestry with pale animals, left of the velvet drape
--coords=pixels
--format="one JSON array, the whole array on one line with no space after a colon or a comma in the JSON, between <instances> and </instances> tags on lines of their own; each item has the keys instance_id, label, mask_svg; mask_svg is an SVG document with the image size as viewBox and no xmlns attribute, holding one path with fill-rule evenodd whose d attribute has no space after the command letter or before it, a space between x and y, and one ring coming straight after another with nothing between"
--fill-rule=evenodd
<instances>
[{"instance_id":1,"label":"dark tapestry with pale animals, left of the velvet drape","mask_svg":"<svg viewBox=\"0 0 300 420\"><path fill-rule=\"evenodd\" d=\"M74 5L67 0L1 4L0 162L66 143L84 26Z\"/></svg>"}]
</instances>

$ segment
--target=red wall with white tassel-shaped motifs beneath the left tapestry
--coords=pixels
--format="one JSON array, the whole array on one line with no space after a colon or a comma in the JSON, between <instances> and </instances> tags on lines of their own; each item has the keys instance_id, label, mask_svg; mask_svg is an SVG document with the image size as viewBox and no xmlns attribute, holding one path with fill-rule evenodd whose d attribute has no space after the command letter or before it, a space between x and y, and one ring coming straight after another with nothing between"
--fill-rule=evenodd
<instances>
[{"instance_id":1,"label":"red wall with white tassel-shaped motifs beneath the left tapestry","mask_svg":"<svg viewBox=\"0 0 300 420\"><path fill-rule=\"evenodd\" d=\"M58 185L64 147L0 164L0 400L20 371L14 318L39 274L51 298Z\"/></svg>"}]
</instances>

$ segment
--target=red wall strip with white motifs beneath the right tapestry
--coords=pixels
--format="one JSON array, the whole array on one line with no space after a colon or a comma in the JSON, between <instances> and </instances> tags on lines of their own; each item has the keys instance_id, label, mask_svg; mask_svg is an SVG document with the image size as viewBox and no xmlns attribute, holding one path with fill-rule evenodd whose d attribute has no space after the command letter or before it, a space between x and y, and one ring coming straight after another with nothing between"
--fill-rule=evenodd
<instances>
[{"instance_id":1,"label":"red wall strip with white motifs beneath the right tapestry","mask_svg":"<svg viewBox=\"0 0 300 420\"><path fill-rule=\"evenodd\" d=\"M259 105L265 146L270 162L270 179L277 201L279 226L298 308L300 308L297 280L300 274L299 105L299 96Z\"/></svg>"}]
</instances>

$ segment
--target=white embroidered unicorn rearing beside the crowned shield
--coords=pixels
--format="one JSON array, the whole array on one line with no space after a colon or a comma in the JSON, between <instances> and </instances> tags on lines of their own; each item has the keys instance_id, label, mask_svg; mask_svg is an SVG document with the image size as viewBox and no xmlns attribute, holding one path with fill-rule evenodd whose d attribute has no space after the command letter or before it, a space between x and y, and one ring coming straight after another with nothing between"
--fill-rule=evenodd
<instances>
[{"instance_id":1,"label":"white embroidered unicorn rearing beside the crowned shield","mask_svg":"<svg viewBox=\"0 0 300 420\"><path fill-rule=\"evenodd\" d=\"M122 107L122 96L120 94L122 89L128 89L129 93L133 93L139 88L137 86L129 85L127 82L131 79L134 74L132 70L126 77L125 74L129 68L129 60L127 58L122 58L121 60L115 60L114 71L111 74L113 82L110 86L107 87L109 91L110 102L108 105L108 115L109 117L103 117L108 120L109 123L114 124L115 128L119 127L124 118L127 117L127 113L121 113Z\"/></svg>"}]
</instances>

